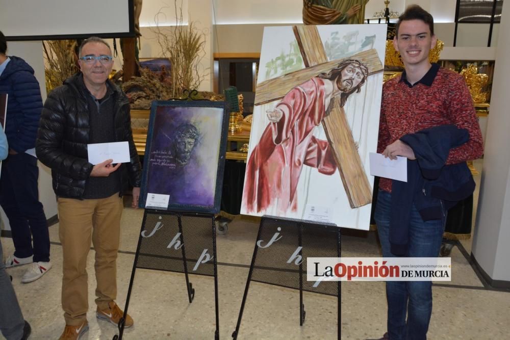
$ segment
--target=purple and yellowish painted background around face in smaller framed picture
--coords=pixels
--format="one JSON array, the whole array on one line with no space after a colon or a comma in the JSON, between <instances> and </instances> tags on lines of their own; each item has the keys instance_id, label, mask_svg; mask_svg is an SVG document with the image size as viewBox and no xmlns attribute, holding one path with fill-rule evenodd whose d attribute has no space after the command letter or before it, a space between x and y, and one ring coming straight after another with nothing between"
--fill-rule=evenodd
<instances>
[{"instance_id":1,"label":"purple and yellowish painted background around face in smaller framed picture","mask_svg":"<svg viewBox=\"0 0 510 340\"><path fill-rule=\"evenodd\" d=\"M147 194L170 195L169 205L214 204L222 115L222 108L157 108L150 150L145 155L150 157ZM175 130L184 123L198 128L200 137L183 166L175 161L171 145Z\"/></svg>"}]
</instances>

